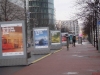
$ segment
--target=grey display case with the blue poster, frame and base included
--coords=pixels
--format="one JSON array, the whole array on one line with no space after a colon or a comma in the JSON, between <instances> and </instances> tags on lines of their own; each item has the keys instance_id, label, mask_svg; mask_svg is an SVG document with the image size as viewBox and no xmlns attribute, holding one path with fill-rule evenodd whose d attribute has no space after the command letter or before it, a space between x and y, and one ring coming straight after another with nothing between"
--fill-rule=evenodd
<instances>
[{"instance_id":1,"label":"grey display case with the blue poster, frame and base included","mask_svg":"<svg viewBox=\"0 0 100 75\"><path fill-rule=\"evenodd\" d=\"M49 29L47 27L33 28L34 54L47 54L49 47Z\"/></svg>"}]
</instances>

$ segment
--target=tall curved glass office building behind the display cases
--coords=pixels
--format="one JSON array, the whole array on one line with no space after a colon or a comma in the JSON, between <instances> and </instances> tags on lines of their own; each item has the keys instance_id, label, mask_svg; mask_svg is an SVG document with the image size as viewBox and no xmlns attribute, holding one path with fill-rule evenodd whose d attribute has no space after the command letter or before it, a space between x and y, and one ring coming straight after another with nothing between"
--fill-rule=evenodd
<instances>
[{"instance_id":1,"label":"tall curved glass office building behind the display cases","mask_svg":"<svg viewBox=\"0 0 100 75\"><path fill-rule=\"evenodd\" d=\"M54 0L29 0L30 24L54 28Z\"/></svg>"}]
</instances>

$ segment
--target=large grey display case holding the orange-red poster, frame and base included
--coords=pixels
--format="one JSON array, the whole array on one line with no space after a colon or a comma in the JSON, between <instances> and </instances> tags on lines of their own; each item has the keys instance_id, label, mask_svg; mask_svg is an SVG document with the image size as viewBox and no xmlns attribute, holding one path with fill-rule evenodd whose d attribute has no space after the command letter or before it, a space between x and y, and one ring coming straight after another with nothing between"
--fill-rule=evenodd
<instances>
[{"instance_id":1,"label":"large grey display case holding the orange-red poster, frame and base included","mask_svg":"<svg viewBox=\"0 0 100 75\"><path fill-rule=\"evenodd\" d=\"M0 22L0 66L27 65L24 21Z\"/></svg>"}]
</instances>

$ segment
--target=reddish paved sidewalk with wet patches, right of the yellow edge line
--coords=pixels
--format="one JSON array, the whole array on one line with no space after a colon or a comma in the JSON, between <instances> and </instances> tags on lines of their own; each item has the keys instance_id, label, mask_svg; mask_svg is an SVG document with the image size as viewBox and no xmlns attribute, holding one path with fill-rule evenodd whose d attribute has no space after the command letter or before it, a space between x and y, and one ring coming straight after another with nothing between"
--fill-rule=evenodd
<instances>
[{"instance_id":1,"label":"reddish paved sidewalk with wet patches, right of the yellow edge line","mask_svg":"<svg viewBox=\"0 0 100 75\"><path fill-rule=\"evenodd\" d=\"M100 53L89 43L64 46L12 75L100 75Z\"/></svg>"}]
</instances>

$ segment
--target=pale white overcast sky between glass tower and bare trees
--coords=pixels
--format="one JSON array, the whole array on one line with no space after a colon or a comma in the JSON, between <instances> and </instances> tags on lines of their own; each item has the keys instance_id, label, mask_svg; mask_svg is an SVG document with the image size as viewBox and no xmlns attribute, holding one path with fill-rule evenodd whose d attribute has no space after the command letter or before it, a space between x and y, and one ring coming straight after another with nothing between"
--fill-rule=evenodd
<instances>
[{"instance_id":1,"label":"pale white overcast sky between glass tower and bare trees","mask_svg":"<svg viewBox=\"0 0 100 75\"><path fill-rule=\"evenodd\" d=\"M73 19L77 12L75 3L76 0L54 0L56 20Z\"/></svg>"}]
</instances>

